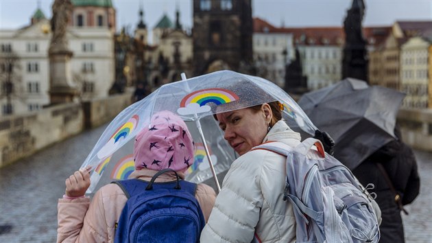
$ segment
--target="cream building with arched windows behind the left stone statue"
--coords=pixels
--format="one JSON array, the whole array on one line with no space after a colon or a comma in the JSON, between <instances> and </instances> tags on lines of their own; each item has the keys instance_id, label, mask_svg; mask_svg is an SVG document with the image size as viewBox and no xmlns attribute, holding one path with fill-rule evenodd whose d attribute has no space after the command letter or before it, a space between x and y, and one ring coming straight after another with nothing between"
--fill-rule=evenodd
<instances>
[{"instance_id":1,"label":"cream building with arched windows behind the left stone statue","mask_svg":"<svg viewBox=\"0 0 432 243\"><path fill-rule=\"evenodd\" d=\"M80 99L108 96L115 80L115 9L110 0L72 0L67 38L73 83ZM5 57L16 56L11 89L1 89L1 113L27 113L50 104L49 56L51 23L37 8L29 25L0 30L0 69L7 70ZM3 80L3 79L2 79ZM5 85L2 85L2 87ZM3 95L13 93L12 95Z\"/></svg>"}]
</instances>

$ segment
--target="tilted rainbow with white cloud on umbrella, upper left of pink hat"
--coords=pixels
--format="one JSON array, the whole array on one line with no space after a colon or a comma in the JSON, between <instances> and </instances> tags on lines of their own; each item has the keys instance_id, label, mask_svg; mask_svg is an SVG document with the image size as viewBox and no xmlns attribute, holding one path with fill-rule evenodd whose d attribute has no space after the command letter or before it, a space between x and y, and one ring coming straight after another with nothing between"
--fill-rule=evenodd
<instances>
[{"instance_id":1,"label":"tilted rainbow with white cloud on umbrella, upper left of pink hat","mask_svg":"<svg viewBox=\"0 0 432 243\"><path fill-rule=\"evenodd\" d=\"M130 117L128 122L125 122L122 126L117 128L117 130L112 134L108 142L97 152L97 157L99 159L104 159L112 153L114 153L121 146L121 142L123 139L126 139L128 135L130 135L139 122L139 116L133 115Z\"/></svg>"}]
</instances>

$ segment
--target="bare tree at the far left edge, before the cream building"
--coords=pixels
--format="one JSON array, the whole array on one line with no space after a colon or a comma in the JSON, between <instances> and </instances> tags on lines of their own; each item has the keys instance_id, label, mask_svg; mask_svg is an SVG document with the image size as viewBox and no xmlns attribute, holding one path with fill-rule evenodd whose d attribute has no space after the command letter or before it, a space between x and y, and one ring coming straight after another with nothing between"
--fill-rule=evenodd
<instances>
[{"instance_id":1,"label":"bare tree at the far left edge, before the cream building","mask_svg":"<svg viewBox=\"0 0 432 243\"><path fill-rule=\"evenodd\" d=\"M0 100L6 97L5 114L12 114L12 98L24 99L20 58L12 50L0 53Z\"/></svg>"}]
</instances>

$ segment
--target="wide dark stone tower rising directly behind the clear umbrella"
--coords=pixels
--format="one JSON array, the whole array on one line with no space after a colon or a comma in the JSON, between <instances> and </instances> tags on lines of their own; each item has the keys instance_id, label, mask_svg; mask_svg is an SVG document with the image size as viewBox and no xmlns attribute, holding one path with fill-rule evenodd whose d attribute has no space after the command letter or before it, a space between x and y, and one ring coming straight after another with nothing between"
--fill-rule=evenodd
<instances>
[{"instance_id":1,"label":"wide dark stone tower rising directly behind the clear umbrella","mask_svg":"<svg viewBox=\"0 0 432 243\"><path fill-rule=\"evenodd\" d=\"M251 0L193 0L195 76L252 69Z\"/></svg>"}]
</instances>

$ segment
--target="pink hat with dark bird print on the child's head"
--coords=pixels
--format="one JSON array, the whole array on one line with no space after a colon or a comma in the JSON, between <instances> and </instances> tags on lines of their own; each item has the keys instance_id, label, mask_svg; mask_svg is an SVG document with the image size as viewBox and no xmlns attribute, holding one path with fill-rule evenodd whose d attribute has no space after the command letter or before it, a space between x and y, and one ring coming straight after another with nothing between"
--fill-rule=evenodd
<instances>
[{"instance_id":1,"label":"pink hat with dark bird print on the child's head","mask_svg":"<svg viewBox=\"0 0 432 243\"><path fill-rule=\"evenodd\" d=\"M170 111L153 115L148 128L136 135L135 169L184 172L193 163L194 143L183 120Z\"/></svg>"}]
</instances>

